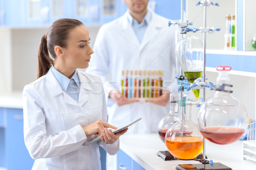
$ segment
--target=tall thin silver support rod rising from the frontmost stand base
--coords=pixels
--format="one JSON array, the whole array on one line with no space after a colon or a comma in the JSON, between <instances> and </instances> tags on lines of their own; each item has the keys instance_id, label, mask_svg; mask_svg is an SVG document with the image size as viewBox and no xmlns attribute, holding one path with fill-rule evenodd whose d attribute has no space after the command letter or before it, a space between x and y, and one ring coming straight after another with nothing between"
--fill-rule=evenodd
<instances>
[{"instance_id":1,"label":"tall thin silver support rod rising from the frontmost stand base","mask_svg":"<svg viewBox=\"0 0 256 170\"><path fill-rule=\"evenodd\" d=\"M206 28L207 24L206 24L206 20L207 20L207 0L204 0L204 28ZM206 64L206 32L204 32L204 82L205 82L205 64ZM203 99L205 102L205 88L203 90ZM203 138L203 159L206 159L205 156L205 138ZM203 164L203 167L205 168L205 164Z\"/></svg>"}]
</instances>

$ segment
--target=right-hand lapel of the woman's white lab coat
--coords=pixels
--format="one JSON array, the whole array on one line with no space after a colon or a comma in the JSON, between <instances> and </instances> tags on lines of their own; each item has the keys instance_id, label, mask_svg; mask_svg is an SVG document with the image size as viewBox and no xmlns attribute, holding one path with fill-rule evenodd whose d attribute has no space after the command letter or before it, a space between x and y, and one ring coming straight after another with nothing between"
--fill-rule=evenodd
<instances>
[{"instance_id":1,"label":"right-hand lapel of the woman's white lab coat","mask_svg":"<svg viewBox=\"0 0 256 170\"><path fill-rule=\"evenodd\" d=\"M82 106L89 99L92 88L89 85L90 82L86 80L86 77L84 77L80 71L78 71L77 73L80 80L80 93L78 102L79 105Z\"/></svg>"}]
</instances>

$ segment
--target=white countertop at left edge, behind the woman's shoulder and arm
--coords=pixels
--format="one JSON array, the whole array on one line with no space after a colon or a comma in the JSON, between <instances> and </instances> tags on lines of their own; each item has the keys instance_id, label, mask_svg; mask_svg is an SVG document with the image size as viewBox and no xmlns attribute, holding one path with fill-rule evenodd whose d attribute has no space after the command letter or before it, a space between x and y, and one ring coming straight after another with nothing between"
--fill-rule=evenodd
<instances>
[{"instance_id":1,"label":"white countertop at left edge, behind the woman's shoulder and arm","mask_svg":"<svg viewBox=\"0 0 256 170\"><path fill-rule=\"evenodd\" d=\"M9 94L0 95L0 108L22 109L22 91L13 91Z\"/></svg>"}]
</instances>

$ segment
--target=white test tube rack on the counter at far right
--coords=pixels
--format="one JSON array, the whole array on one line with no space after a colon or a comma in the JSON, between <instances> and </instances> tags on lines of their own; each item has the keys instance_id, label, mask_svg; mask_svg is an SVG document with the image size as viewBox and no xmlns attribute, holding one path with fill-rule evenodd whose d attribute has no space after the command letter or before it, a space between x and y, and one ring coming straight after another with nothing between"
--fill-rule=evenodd
<instances>
[{"instance_id":1,"label":"white test tube rack on the counter at far right","mask_svg":"<svg viewBox=\"0 0 256 170\"><path fill-rule=\"evenodd\" d=\"M256 140L243 141L243 159L256 162Z\"/></svg>"}]
</instances>

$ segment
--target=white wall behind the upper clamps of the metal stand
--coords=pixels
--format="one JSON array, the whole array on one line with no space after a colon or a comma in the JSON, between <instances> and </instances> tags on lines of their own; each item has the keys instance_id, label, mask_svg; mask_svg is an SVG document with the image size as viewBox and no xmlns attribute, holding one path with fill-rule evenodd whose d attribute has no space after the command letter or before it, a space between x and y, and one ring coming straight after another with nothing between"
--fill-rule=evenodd
<instances>
[{"instance_id":1,"label":"white wall behind the upper clamps of the metal stand","mask_svg":"<svg viewBox=\"0 0 256 170\"><path fill-rule=\"evenodd\" d=\"M198 0L187 0L187 16L190 28L204 27L204 7L195 6ZM236 14L236 0L215 0L220 6L207 7L207 27L221 28L214 34L207 34L207 49L224 49L224 34L226 33L227 14ZM203 41L203 33L193 33L193 36Z\"/></svg>"}]
</instances>

